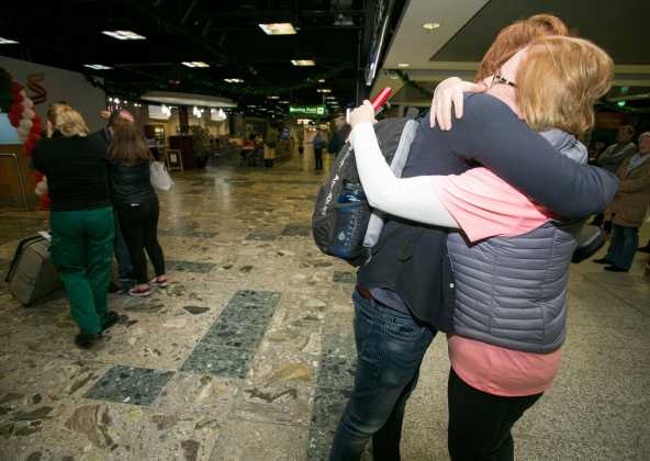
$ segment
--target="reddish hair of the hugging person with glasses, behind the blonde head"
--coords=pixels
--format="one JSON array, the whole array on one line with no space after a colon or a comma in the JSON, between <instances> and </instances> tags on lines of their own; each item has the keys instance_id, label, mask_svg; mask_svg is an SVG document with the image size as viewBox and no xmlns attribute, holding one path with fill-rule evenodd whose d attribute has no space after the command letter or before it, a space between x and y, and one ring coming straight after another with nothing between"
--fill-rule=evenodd
<instances>
[{"instance_id":1,"label":"reddish hair of the hugging person with glasses, behind the blonde head","mask_svg":"<svg viewBox=\"0 0 650 461\"><path fill-rule=\"evenodd\" d=\"M569 29L561 19L552 14L535 14L502 29L481 59L474 81L493 76L519 49L535 38L548 35L569 35Z\"/></svg>"}]
</instances>

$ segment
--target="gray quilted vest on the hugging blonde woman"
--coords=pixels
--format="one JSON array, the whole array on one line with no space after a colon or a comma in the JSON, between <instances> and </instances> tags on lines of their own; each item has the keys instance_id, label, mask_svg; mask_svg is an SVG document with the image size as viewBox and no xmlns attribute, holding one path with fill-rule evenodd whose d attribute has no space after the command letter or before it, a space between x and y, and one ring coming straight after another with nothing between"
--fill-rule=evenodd
<instances>
[{"instance_id":1,"label":"gray quilted vest on the hugging blonde woman","mask_svg":"<svg viewBox=\"0 0 650 461\"><path fill-rule=\"evenodd\" d=\"M574 229L547 223L525 235L469 246L447 240L456 280L453 333L507 349L547 353L567 336Z\"/></svg>"}]
</instances>

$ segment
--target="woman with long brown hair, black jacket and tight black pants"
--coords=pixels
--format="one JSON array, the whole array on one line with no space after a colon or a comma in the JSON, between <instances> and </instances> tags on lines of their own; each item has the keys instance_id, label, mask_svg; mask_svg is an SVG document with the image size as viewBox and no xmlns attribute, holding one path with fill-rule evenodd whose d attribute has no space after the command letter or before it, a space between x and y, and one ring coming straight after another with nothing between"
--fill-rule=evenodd
<instances>
[{"instance_id":1,"label":"woman with long brown hair, black jacket and tight black pants","mask_svg":"<svg viewBox=\"0 0 650 461\"><path fill-rule=\"evenodd\" d=\"M169 284L162 248L158 244L159 205L149 179L150 155L134 124L123 119L113 124L109 151L111 199L137 282L128 294L148 296L152 285L165 288ZM156 271L150 281L145 249Z\"/></svg>"}]
</instances>

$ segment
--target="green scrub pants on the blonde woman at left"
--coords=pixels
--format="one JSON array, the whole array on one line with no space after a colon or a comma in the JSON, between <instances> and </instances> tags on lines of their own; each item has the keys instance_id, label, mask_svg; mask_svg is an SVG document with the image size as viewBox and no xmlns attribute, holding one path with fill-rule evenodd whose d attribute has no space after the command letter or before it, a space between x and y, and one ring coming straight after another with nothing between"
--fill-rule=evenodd
<instances>
[{"instance_id":1,"label":"green scrub pants on the blonde woman at left","mask_svg":"<svg viewBox=\"0 0 650 461\"><path fill-rule=\"evenodd\" d=\"M113 209L52 212L52 261L70 297L70 314L81 333L102 331L115 223Z\"/></svg>"}]
</instances>

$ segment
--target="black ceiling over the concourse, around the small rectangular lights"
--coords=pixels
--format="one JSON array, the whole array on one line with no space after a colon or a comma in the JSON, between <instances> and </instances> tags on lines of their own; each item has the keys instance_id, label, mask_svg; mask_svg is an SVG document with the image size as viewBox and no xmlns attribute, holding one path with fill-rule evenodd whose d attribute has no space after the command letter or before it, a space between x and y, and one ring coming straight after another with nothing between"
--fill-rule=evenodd
<instances>
[{"instance_id":1,"label":"black ceiling over the concourse, around the small rectangular lights","mask_svg":"<svg viewBox=\"0 0 650 461\"><path fill-rule=\"evenodd\" d=\"M395 9L404 4L389 1ZM7 1L0 7L0 36L20 45L3 45L0 53L101 77L108 95L135 99L147 90L166 90L228 97L242 106L274 104L268 95L320 104L323 93L316 89L328 88L345 108L366 97L361 81L370 31L383 2L71 0L26 7ZM258 26L278 22L291 22L298 34L271 36ZM119 41L101 34L107 30L133 31L147 40ZM291 59L314 59L316 66L295 67ZM192 60L210 68L181 65ZM112 69L90 70L83 64Z\"/></svg>"}]
</instances>

